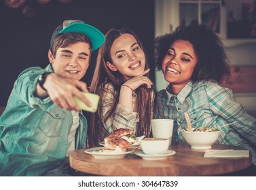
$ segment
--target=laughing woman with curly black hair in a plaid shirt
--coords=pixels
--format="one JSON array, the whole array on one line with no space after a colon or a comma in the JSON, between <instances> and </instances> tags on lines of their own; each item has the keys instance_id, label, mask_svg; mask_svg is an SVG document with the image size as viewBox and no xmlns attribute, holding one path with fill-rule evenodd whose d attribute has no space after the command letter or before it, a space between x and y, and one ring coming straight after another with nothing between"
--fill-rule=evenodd
<instances>
[{"instance_id":1,"label":"laughing woman with curly black hair in a plaid shirt","mask_svg":"<svg viewBox=\"0 0 256 190\"><path fill-rule=\"evenodd\" d=\"M156 67L169 85L156 96L154 117L175 120L172 140L184 140L187 112L192 127L219 128L218 143L249 149L256 164L256 119L221 86L230 66L218 35L202 25L181 24L155 42ZM221 127L227 123L233 124Z\"/></svg>"}]
</instances>

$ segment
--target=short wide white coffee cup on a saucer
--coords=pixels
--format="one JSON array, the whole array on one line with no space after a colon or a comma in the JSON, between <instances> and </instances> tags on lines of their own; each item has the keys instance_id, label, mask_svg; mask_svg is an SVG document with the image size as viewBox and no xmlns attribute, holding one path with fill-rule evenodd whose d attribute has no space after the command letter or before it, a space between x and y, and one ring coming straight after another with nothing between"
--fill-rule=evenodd
<instances>
[{"instance_id":1,"label":"short wide white coffee cup on a saucer","mask_svg":"<svg viewBox=\"0 0 256 190\"><path fill-rule=\"evenodd\" d=\"M141 149L145 154L163 154L168 151L168 147L168 138L143 138L141 140Z\"/></svg>"}]
</instances>

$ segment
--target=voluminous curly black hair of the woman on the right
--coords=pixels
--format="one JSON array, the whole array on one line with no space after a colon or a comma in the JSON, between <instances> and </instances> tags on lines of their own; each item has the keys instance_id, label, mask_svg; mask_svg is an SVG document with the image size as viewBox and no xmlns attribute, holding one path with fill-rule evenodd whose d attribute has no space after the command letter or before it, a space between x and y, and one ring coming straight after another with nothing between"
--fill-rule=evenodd
<instances>
[{"instance_id":1,"label":"voluminous curly black hair of the woman on the right","mask_svg":"<svg viewBox=\"0 0 256 190\"><path fill-rule=\"evenodd\" d=\"M162 60L170 45L178 39L189 41L194 48L198 62L191 80L213 80L221 83L230 77L230 61L227 58L223 42L219 36L206 26L181 23L173 33L155 38L155 64L161 70Z\"/></svg>"}]
</instances>

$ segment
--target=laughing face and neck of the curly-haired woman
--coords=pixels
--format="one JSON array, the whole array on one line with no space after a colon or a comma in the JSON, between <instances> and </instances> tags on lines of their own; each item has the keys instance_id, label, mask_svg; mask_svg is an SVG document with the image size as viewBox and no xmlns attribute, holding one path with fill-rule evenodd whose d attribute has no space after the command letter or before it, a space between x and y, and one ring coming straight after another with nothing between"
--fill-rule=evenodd
<instances>
[{"instance_id":1,"label":"laughing face and neck of the curly-haired woman","mask_svg":"<svg viewBox=\"0 0 256 190\"><path fill-rule=\"evenodd\" d=\"M191 80L197 60L193 45L189 41L177 40L170 45L162 62L162 72L173 93L179 93Z\"/></svg>"}]
</instances>

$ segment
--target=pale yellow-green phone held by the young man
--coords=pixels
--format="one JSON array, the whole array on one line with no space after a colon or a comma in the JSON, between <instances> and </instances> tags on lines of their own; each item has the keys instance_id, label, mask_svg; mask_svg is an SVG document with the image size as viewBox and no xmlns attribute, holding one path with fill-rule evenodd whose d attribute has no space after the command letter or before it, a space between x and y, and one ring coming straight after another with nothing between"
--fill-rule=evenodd
<instances>
[{"instance_id":1,"label":"pale yellow-green phone held by the young man","mask_svg":"<svg viewBox=\"0 0 256 190\"><path fill-rule=\"evenodd\" d=\"M78 105L79 109L82 109L84 111L89 111L89 112L96 112L98 109L98 101L100 100L100 96L98 94L93 94L89 92L81 92L86 96L86 98L92 103L92 107L88 107L84 102L82 102L77 96L73 96L76 104Z\"/></svg>"}]
</instances>

